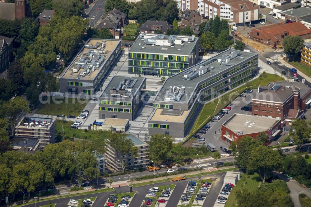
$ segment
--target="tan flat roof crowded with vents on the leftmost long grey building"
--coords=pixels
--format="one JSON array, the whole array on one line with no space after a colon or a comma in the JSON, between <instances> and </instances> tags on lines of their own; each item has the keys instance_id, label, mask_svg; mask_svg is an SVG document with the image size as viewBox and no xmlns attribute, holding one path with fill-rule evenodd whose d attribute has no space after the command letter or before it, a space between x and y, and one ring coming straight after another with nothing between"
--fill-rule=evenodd
<instances>
[{"instance_id":1,"label":"tan flat roof crowded with vents on the leftmost long grey building","mask_svg":"<svg viewBox=\"0 0 311 207\"><path fill-rule=\"evenodd\" d=\"M61 78L93 80L103 69L121 40L89 39L63 72Z\"/></svg>"}]
</instances>

